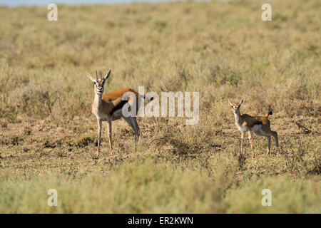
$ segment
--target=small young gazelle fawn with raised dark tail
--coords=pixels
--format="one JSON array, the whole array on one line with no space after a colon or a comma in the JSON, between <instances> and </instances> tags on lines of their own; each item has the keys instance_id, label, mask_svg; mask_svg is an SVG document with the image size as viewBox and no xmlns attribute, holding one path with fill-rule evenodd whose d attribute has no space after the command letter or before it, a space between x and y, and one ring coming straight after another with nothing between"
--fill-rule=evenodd
<instances>
[{"instance_id":1,"label":"small young gazelle fawn with raised dark tail","mask_svg":"<svg viewBox=\"0 0 321 228\"><path fill-rule=\"evenodd\" d=\"M240 114L240 105L244 102L244 99L240 103L230 103L230 106L233 108L233 113L235 117L235 125L238 127L238 130L241 132L241 148L240 153L243 152L243 141L245 138L245 133L248 132L248 139L250 140L250 145L252 148L252 157L255 157L252 133L258 136L265 136L267 138L267 155L270 153L271 146L271 136L275 138L275 145L277 147L277 153L279 152L279 140L277 138L277 133L272 131L270 128L270 120L268 119L269 115L272 115L272 111L269 111L266 115L248 115Z\"/></svg>"}]
</instances>

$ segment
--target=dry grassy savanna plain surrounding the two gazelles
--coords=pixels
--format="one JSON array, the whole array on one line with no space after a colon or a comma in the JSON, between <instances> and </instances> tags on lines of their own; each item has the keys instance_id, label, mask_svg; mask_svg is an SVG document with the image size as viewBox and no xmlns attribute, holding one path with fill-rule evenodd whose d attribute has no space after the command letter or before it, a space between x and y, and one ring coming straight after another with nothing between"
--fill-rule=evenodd
<instances>
[{"instance_id":1,"label":"dry grassy savanna plain surrounding the two gazelles","mask_svg":"<svg viewBox=\"0 0 321 228\"><path fill-rule=\"evenodd\" d=\"M0 7L0 212L320 213L320 1ZM200 120L106 123L96 152L93 85L200 92ZM239 157L241 113L265 114L280 138ZM263 207L261 191L272 191ZM47 191L58 191L58 207Z\"/></svg>"}]
</instances>

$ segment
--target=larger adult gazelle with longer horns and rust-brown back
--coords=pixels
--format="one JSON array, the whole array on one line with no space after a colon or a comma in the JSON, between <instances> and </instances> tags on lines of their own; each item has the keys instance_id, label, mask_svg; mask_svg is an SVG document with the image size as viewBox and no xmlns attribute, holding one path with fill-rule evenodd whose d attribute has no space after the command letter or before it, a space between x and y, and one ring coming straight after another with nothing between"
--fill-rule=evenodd
<instances>
[{"instance_id":1,"label":"larger adult gazelle with longer horns and rust-brown back","mask_svg":"<svg viewBox=\"0 0 321 228\"><path fill-rule=\"evenodd\" d=\"M135 132L135 142L138 142L139 138L139 127L136 120L136 115L123 115L123 106L127 104L127 108L136 108L136 113L138 112L138 98L144 98L146 100L153 100L153 98L146 98L144 95L138 95L135 90L131 88L121 88L115 90L111 93L103 95L103 86L107 78L111 75L111 70L106 73L106 76L98 78L96 71L96 79L94 79L89 73L86 72L88 78L93 82L93 89L95 92L95 98L93 99L93 106L91 112L96 116L98 122L98 147L96 155L99 155L101 147L101 125L103 121L108 123L108 138L109 147L111 148L111 153L113 153L113 144L111 141L111 121L123 118L126 120L128 125L133 128ZM128 95L126 95L128 93ZM133 96L131 96L133 95ZM125 99L124 99L125 98ZM127 99L127 100L126 100Z\"/></svg>"}]
</instances>

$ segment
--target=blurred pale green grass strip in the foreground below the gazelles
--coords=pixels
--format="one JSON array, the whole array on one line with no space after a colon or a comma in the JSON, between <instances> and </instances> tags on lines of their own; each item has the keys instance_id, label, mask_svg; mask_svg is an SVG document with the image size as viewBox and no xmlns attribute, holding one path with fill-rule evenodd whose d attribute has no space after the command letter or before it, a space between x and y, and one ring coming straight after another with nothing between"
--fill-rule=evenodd
<instances>
[{"instance_id":1,"label":"blurred pale green grass strip in the foreground below the gazelles","mask_svg":"<svg viewBox=\"0 0 321 228\"><path fill-rule=\"evenodd\" d=\"M227 170L226 164L217 171ZM233 177L230 176L230 177ZM284 177L245 181L229 187L225 172L209 179L173 163L146 159L125 162L108 175L86 177L1 176L1 213L317 213L320 184ZM228 190L228 188L230 188ZM49 207L49 189L58 192L58 206ZM262 190L272 192L272 207L263 207Z\"/></svg>"}]
</instances>

